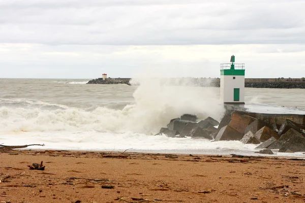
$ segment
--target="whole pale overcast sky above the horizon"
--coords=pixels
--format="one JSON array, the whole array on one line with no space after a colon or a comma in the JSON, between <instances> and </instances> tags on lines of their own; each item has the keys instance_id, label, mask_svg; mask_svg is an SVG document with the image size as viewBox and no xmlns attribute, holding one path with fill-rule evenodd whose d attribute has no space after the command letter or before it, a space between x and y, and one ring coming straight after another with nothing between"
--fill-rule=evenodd
<instances>
[{"instance_id":1,"label":"whole pale overcast sky above the horizon","mask_svg":"<svg viewBox=\"0 0 305 203\"><path fill-rule=\"evenodd\" d=\"M0 78L305 77L304 0L0 0Z\"/></svg>"}]
</instances>

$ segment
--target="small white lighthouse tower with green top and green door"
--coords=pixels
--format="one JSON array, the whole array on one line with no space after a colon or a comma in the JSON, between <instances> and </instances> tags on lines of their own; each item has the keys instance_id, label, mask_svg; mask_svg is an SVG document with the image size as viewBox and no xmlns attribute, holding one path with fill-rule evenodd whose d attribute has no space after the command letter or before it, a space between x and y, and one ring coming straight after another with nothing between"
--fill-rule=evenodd
<instances>
[{"instance_id":1,"label":"small white lighthouse tower with green top and green door","mask_svg":"<svg viewBox=\"0 0 305 203\"><path fill-rule=\"evenodd\" d=\"M245 63L220 64L220 99L224 104L245 104Z\"/></svg>"}]
</instances>

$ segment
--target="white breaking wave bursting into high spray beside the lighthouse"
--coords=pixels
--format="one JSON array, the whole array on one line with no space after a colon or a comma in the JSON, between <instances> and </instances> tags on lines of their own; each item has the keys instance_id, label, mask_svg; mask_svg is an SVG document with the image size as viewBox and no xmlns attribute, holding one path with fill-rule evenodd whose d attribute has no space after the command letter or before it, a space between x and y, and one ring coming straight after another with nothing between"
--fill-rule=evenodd
<instances>
[{"instance_id":1,"label":"white breaking wave bursting into high spray beside the lighthouse","mask_svg":"<svg viewBox=\"0 0 305 203\"><path fill-rule=\"evenodd\" d=\"M151 135L170 119L185 113L202 119L221 118L224 109L216 96L217 89L196 87L189 80L179 82L172 85L159 79L145 79L133 94L135 104L122 110L72 108L35 99L2 99L0 132L97 131Z\"/></svg>"}]
</instances>

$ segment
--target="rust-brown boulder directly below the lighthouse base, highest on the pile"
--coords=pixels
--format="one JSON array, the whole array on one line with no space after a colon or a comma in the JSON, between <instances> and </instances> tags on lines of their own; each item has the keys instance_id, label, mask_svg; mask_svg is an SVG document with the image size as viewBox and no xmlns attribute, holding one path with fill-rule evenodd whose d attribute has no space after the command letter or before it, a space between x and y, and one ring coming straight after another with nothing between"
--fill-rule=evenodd
<instances>
[{"instance_id":1,"label":"rust-brown boulder directly below the lighthouse base, highest on the pile","mask_svg":"<svg viewBox=\"0 0 305 203\"><path fill-rule=\"evenodd\" d=\"M248 115L243 115L241 112L234 111L231 115L231 121L228 126L232 127L243 135L245 128L253 121L254 118Z\"/></svg>"}]
</instances>

